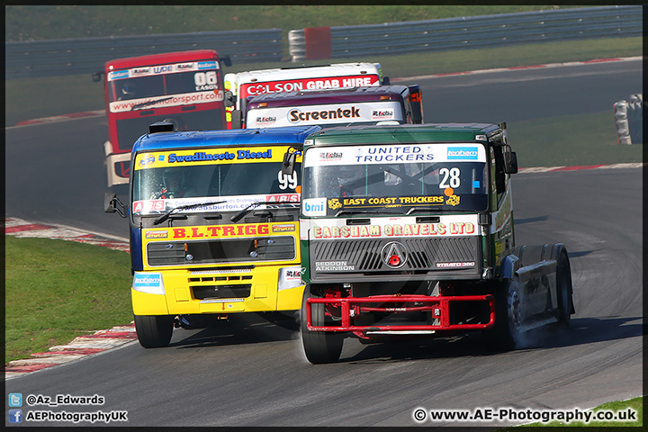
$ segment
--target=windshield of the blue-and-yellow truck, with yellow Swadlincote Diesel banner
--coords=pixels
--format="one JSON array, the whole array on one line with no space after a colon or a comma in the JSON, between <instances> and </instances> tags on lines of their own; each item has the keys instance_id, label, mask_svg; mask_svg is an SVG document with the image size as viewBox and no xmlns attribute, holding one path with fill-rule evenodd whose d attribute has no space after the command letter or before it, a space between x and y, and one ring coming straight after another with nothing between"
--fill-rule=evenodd
<instances>
[{"instance_id":1,"label":"windshield of the blue-and-yellow truck, with yellow Swadlincote Diesel banner","mask_svg":"<svg viewBox=\"0 0 648 432\"><path fill-rule=\"evenodd\" d=\"M132 180L133 214L200 202L224 201L186 211L240 211L253 202L268 202L261 208L275 202L297 204L300 170L282 174L286 150L266 146L140 153Z\"/></svg>"}]
</instances>

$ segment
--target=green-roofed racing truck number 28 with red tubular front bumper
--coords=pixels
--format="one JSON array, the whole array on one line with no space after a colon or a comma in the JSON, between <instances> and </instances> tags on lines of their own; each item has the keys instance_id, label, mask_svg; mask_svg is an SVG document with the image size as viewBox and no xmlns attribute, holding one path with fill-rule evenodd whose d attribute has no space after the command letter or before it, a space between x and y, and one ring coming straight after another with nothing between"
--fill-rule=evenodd
<instances>
[{"instance_id":1,"label":"green-roofed racing truck number 28 with red tubular front bumper","mask_svg":"<svg viewBox=\"0 0 648 432\"><path fill-rule=\"evenodd\" d=\"M302 159L302 343L313 364L371 343L481 331L509 349L569 324L561 243L518 246L505 123L352 126L313 133Z\"/></svg>"}]
</instances>

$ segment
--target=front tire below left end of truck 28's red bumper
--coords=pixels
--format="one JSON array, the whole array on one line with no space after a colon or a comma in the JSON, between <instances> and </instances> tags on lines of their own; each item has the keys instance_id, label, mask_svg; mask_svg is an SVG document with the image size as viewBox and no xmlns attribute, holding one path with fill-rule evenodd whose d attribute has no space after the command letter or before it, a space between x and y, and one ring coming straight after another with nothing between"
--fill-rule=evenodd
<instances>
[{"instance_id":1,"label":"front tire below left end of truck 28's red bumper","mask_svg":"<svg viewBox=\"0 0 648 432\"><path fill-rule=\"evenodd\" d=\"M345 334L335 331L309 331L306 323L306 300L309 298L320 298L320 296L311 293L311 285L306 285L300 317L304 353L313 365L335 363L342 354ZM311 320L314 326L326 324L324 304L311 304Z\"/></svg>"}]
</instances>

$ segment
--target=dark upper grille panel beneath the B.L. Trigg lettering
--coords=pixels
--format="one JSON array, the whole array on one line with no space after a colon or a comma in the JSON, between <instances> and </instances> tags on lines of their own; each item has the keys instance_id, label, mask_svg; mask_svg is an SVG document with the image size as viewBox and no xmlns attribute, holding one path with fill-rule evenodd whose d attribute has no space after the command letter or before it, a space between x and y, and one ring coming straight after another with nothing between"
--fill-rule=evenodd
<instances>
[{"instance_id":1,"label":"dark upper grille panel beneath the B.L. Trigg lettering","mask_svg":"<svg viewBox=\"0 0 648 432\"><path fill-rule=\"evenodd\" d=\"M189 257L191 259L187 259ZM291 236L188 242L155 241L147 245L148 266L283 261L293 260L295 257L295 242Z\"/></svg>"}]
</instances>

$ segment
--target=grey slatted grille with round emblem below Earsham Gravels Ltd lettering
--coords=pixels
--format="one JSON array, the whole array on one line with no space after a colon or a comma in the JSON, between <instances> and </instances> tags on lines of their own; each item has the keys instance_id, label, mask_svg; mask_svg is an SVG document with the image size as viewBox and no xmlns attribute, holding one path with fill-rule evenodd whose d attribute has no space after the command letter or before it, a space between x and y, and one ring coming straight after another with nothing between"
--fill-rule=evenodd
<instances>
[{"instance_id":1,"label":"grey slatted grille with round emblem below Earsham Gravels Ltd lettering","mask_svg":"<svg viewBox=\"0 0 648 432\"><path fill-rule=\"evenodd\" d=\"M380 238L366 240L322 240L311 244L311 266L317 262L345 262L355 272L385 272L393 268L383 262L383 247L399 241L407 248L407 261L399 271L437 270L438 264L470 263L480 266L480 238ZM323 272L326 273L326 272Z\"/></svg>"}]
</instances>

